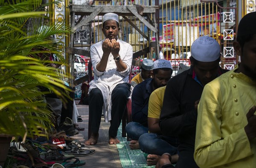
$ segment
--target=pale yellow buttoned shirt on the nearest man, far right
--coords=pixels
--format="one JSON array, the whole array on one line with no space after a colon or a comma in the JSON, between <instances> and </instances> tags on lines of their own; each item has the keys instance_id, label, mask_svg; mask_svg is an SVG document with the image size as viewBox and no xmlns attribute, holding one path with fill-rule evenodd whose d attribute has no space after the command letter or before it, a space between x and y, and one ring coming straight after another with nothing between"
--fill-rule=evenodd
<instances>
[{"instance_id":1,"label":"pale yellow buttoned shirt on the nearest man, far right","mask_svg":"<svg viewBox=\"0 0 256 168\"><path fill-rule=\"evenodd\" d=\"M246 114L256 105L256 81L234 70L204 87L194 153L201 168L256 168L256 138L249 142L244 131Z\"/></svg>"}]
</instances>

